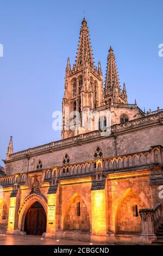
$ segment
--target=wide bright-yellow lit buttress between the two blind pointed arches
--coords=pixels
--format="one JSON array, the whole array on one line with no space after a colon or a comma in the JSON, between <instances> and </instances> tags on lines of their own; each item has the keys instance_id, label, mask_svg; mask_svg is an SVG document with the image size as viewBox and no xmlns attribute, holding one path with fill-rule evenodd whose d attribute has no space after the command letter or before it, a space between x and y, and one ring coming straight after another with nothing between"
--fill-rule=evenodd
<instances>
[{"instance_id":1,"label":"wide bright-yellow lit buttress between the two blind pointed arches","mask_svg":"<svg viewBox=\"0 0 163 256\"><path fill-rule=\"evenodd\" d=\"M105 190L91 191L92 241L106 241L106 198Z\"/></svg>"}]
</instances>

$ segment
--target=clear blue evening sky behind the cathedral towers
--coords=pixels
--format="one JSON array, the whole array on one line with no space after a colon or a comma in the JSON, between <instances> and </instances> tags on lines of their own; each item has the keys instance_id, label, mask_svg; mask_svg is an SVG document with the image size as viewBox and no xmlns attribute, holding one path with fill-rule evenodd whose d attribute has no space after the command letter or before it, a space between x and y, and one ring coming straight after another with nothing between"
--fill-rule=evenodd
<instances>
[{"instance_id":1,"label":"clear blue evening sky behind the cathedral towers","mask_svg":"<svg viewBox=\"0 0 163 256\"><path fill-rule=\"evenodd\" d=\"M52 130L52 113L61 110L67 57L72 65L84 10L103 75L112 45L129 103L136 98L142 109L163 107L162 0L1 0L1 159L10 135L14 151L60 139L60 131Z\"/></svg>"}]
</instances>

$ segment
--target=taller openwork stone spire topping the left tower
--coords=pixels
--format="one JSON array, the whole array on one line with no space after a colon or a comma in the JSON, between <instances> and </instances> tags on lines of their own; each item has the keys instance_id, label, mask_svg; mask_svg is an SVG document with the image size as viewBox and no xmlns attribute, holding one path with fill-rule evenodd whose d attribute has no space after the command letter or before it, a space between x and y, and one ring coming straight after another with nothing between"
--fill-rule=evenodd
<instances>
[{"instance_id":1,"label":"taller openwork stone spire topping the left tower","mask_svg":"<svg viewBox=\"0 0 163 256\"><path fill-rule=\"evenodd\" d=\"M84 18L82 21L82 27L80 28L76 66L80 66L86 62L93 68L93 54L89 38L89 28L87 27L87 22Z\"/></svg>"}]
</instances>

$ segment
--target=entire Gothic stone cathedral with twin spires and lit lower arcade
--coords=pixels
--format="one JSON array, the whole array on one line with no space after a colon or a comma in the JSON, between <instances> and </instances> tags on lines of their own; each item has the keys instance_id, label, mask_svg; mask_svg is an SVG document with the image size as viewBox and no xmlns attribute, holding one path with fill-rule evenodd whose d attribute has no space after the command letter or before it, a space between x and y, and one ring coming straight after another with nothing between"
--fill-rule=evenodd
<instances>
[{"instance_id":1,"label":"entire Gothic stone cathedral with twin spires and lit lower arcade","mask_svg":"<svg viewBox=\"0 0 163 256\"><path fill-rule=\"evenodd\" d=\"M85 18L66 65L61 140L14 152L11 137L3 161L1 234L163 243L163 109L128 102L111 46L103 80Z\"/></svg>"}]
</instances>

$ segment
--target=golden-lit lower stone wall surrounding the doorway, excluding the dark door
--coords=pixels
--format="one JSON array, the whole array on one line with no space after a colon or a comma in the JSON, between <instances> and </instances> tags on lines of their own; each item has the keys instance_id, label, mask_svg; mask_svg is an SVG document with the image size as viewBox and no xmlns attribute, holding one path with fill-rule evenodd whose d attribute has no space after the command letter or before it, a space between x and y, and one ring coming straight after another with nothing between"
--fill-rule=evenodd
<instances>
[{"instance_id":1,"label":"golden-lit lower stone wall surrounding the doorway, excluding the dark door","mask_svg":"<svg viewBox=\"0 0 163 256\"><path fill-rule=\"evenodd\" d=\"M141 232L140 216L133 216L133 206L137 205L138 212L139 209L152 208L149 170L108 173L104 188L97 186L97 190L96 187L92 190L90 176L76 179L65 177L59 181L57 193L54 190L48 193L50 184L42 183L41 171L29 175L31 182L20 186L16 197L10 197L11 190L8 192L9 188L5 188L4 200L10 215L6 220L8 234L24 234L26 212L37 200L47 215L46 237L54 238L57 235L59 238L77 240L82 237L86 241L99 242L116 242L122 231L126 234ZM40 181L40 191L36 194L31 191L35 175ZM77 216L78 202L80 216ZM1 202L1 219L2 205ZM81 231L86 232L85 236L81 236ZM128 242L124 237L118 241L122 240Z\"/></svg>"}]
</instances>

